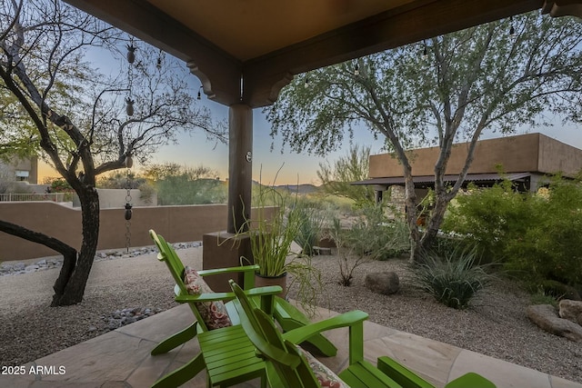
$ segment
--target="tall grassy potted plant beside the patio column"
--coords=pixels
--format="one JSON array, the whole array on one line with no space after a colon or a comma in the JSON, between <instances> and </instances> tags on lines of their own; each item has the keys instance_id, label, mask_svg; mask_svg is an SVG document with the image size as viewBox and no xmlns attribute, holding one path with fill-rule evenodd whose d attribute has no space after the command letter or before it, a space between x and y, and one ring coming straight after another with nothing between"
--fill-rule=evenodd
<instances>
[{"instance_id":1,"label":"tall grassy potted plant beside the patio column","mask_svg":"<svg viewBox=\"0 0 582 388\"><path fill-rule=\"evenodd\" d=\"M284 290L282 296L286 296L287 278L290 276L292 280L288 286L296 284L298 302L307 311L313 311L321 288L320 274L311 265L309 256L292 250L292 244L305 222L297 194L259 184L253 200L256 217L247 220L246 233L250 235L254 264L259 266L256 286L281 285ZM275 207L275 211L267 212L269 206ZM266 216L267 213L270 216Z\"/></svg>"}]
</instances>

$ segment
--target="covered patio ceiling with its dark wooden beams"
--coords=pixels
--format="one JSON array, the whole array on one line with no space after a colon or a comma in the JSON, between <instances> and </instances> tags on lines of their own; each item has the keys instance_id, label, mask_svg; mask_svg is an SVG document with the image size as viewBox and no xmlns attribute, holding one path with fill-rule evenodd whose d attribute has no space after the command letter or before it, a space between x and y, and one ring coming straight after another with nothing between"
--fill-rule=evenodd
<instances>
[{"instance_id":1,"label":"covered patio ceiling with its dark wooden beams","mask_svg":"<svg viewBox=\"0 0 582 388\"><path fill-rule=\"evenodd\" d=\"M184 60L217 103L272 104L293 75L582 0L65 0Z\"/></svg>"}]
</instances>

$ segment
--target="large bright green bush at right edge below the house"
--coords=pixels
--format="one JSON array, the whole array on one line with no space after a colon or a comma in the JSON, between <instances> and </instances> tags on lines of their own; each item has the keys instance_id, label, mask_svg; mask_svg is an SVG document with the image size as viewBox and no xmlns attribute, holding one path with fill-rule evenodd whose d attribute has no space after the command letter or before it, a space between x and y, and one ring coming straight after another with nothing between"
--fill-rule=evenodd
<instances>
[{"instance_id":1,"label":"large bright green bush at right edge below the house","mask_svg":"<svg viewBox=\"0 0 582 388\"><path fill-rule=\"evenodd\" d=\"M510 183L458 197L443 229L467 235L529 288L582 283L582 184L555 177L544 194Z\"/></svg>"}]
</instances>

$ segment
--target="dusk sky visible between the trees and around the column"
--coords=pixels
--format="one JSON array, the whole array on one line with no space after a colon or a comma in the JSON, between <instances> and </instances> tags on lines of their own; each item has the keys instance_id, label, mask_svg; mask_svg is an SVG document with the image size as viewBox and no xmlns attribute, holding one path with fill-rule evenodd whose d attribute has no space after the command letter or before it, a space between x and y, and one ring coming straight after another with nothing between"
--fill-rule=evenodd
<instances>
[{"instance_id":1,"label":"dusk sky visible between the trees and around the column","mask_svg":"<svg viewBox=\"0 0 582 388\"><path fill-rule=\"evenodd\" d=\"M119 65L115 63L115 59L108 54L104 55L103 52L88 53L86 59L98 67L102 67L101 70L105 68L111 72L119 71ZM198 78L195 75L189 75L188 83L191 85L192 94L197 95L200 88ZM201 100L196 101L196 103L207 106L216 119L227 120L228 108L225 105L208 100L204 94L202 94ZM333 164L339 156L346 154L350 147L349 141L346 139L338 151L327 154L325 157L309 155L307 151L296 154L288 146L282 149L282 138L279 136L272 139L269 135L271 126L266 121L262 109L255 109L253 126L253 179L256 181L260 179L263 184L321 184L316 174L319 164L325 161ZM558 141L582 149L582 128L576 125L570 124L564 127L557 121L552 127L519 128L514 134L533 132L546 134ZM499 137L499 134L483 134L481 136L482 139L491 137ZM372 154L379 154L382 152L384 140L382 136L374 140L372 134L362 125L361 128L355 130L353 143L360 146L369 145ZM168 144L161 147L152 160L152 163L158 164L166 162L189 167L202 164L215 170L221 180L226 180L228 176L228 145L207 141L206 134L202 131L195 134L180 134L178 144ZM139 174L141 167L139 164L135 164L133 170ZM276 175L279 169L280 172ZM49 166L40 165L39 182L42 182L45 176L55 177L58 174ZM276 182L274 182L275 179Z\"/></svg>"}]
</instances>

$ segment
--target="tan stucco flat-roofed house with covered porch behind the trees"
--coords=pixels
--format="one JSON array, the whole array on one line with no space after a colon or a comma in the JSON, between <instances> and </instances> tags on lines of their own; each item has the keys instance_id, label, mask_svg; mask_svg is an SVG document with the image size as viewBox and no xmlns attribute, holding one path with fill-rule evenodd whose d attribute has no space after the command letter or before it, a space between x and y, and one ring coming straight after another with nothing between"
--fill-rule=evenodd
<instances>
[{"instance_id":1,"label":"tan stucco flat-roofed house with covered porch behind the trees","mask_svg":"<svg viewBox=\"0 0 582 388\"><path fill-rule=\"evenodd\" d=\"M445 180L454 184L467 158L468 143L455 144L451 153ZM434 187L435 163L438 147L410 151L412 174L419 196L426 188ZM402 165L393 154L370 155L369 174L366 181L354 184L372 184L376 199L391 190L394 195L404 186ZM521 134L477 142L475 158L469 168L465 185L490 186L501 181L499 166L504 176L514 182L518 190L535 191L547 182L547 176L561 173L574 177L582 169L582 150L558 142L544 134ZM394 199L394 198L393 198Z\"/></svg>"}]
</instances>

